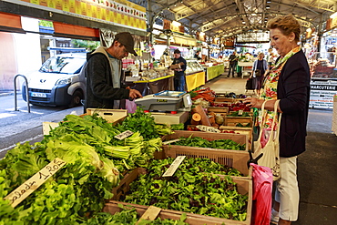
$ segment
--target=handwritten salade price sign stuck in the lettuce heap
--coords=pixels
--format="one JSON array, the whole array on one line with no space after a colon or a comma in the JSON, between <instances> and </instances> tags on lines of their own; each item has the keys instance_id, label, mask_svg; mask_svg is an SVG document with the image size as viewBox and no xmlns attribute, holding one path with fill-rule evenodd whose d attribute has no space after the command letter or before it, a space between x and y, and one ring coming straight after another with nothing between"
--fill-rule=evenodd
<instances>
[{"instance_id":1,"label":"handwritten salade price sign stuck in the lettuce heap","mask_svg":"<svg viewBox=\"0 0 337 225\"><path fill-rule=\"evenodd\" d=\"M65 165L66 161L58 158L54 159L30 179L27 179L25 183L20 185L20 187L13 190L5 197L5 199L9 199L12 207L14 208Z\"/></svg>"}]
</instances>

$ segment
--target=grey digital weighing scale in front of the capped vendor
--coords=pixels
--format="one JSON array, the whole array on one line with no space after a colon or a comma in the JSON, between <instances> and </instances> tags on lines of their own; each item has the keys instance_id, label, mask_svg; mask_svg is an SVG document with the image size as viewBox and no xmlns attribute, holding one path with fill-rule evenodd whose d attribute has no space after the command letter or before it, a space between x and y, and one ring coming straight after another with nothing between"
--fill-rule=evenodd
<instances>
[{"instance_id":1,"label":"grey digital weighing scale in front of the capped vendor","mask_svg":"<svg viewBox=\"0 0 337 225\"><path fill-rule=\"evenodd\" d=\"M190 111L192 106L192 100L186 91L169 90L135 99L135 103L144 111L169 111L173 114L177 111Z\"/></svg>"}]
</instances>

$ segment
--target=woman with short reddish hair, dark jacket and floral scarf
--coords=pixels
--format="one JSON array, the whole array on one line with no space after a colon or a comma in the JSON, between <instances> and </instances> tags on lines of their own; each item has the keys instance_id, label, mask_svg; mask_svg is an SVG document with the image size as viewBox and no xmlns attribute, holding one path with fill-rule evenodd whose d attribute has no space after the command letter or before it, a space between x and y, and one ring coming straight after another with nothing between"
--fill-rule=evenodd
<instances>
[{"instance_id":1,"label":"woman with short reddish hair, dark jacket and floral scarf","mask_svg":"<svg viewBox=\"0 0 337 225\"><path fill-rule=\"evenodd\" d=\"M275 201L271 210L271 222L289 225L298 219L300 192L297 181L297 156L305 151L306 126L310 99L310 69L300 42L301 25L293 15L279 15L267 23L271 31L271 46L280 55L271 73L266 77L260 98L247 97L244 102L260 108L265 100L266 109L273 110L280 99L278 111L282 113L280 127L281 178L275 181ZM271 128L268 111L260 119ZM276 129L276 128L275 128Z\"/></svg>"}]
</instances>

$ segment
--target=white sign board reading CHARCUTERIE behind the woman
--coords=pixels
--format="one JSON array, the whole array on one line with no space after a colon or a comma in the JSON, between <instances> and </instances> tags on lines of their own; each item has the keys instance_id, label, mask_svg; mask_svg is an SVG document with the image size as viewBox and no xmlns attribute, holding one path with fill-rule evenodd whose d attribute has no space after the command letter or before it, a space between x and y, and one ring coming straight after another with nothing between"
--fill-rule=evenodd
<instances>
[{"instance_id":1,"label":"white sign board reading CHARCUTERIE behind the woman","mask_svg":"<svg viewBox=\"0 0 337 225\"><path fill-rule=\"evenodd\" d=\"M311 84L309 107L333 108L333 96L337 94L337 85Z\"/></svg>"}]
</instances>

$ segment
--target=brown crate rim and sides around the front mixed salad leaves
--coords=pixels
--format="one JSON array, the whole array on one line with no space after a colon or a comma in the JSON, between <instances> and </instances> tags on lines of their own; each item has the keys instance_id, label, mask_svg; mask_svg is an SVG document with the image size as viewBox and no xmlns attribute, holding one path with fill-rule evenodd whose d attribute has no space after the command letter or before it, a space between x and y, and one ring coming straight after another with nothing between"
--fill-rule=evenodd
<instances>
[{"instance_id":1,"label":"brown crate rim and sides around the front mixed salad leaves","mask_svg":"<svg viewBox=\"0 0 337 225\"><path fill-rule=\"evenodd\" d=\"M129 185L135 180L138 179L139 174L145 174L145 169L134 169L130 172L124 179L122 179L119 183L119 186L114 189L114 197L107 201L103 211L108 212L111 214L115 214L116 212L120 211L120 208L117 204L122 204L123 206L130 206L136 208L138 214L141 216L146 210L148 210L149 206L143 206L138 204L131 204L119 201L122 197L126 196ZM225 177L225 176L220 176ZM233 181L237 183L238 192L241 195L248 195L248 205L247 205L247 217L245 221L238 221L238 220L229 220L224 218L216 218L210 216L204 216L194 213L186 213L187 219L185 222L189 223L190 225L249 225L251 220L251 207L252 207L252 180L251 179L240 179L240 178L233 178ZM178 210L160 210L158 217L160 219L172 219L172 220L179 220L181 214L184 213L183 211Z\"/></svg>"}]
</instances>

